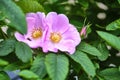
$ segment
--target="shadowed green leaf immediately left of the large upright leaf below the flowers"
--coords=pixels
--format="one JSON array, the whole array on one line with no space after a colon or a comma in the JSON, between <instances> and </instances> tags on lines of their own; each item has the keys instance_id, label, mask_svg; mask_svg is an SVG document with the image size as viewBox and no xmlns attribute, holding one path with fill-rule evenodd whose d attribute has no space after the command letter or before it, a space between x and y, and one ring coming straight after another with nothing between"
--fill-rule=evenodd
<instances>
[{"instance_id":1,"label":"shadowed green leaf immediately left of the large upright leaf below the flowers","mask_svg":"<svg viewBox=\"0 0 120 80\"><path fill-rule=\"evenodd\" d=\"M33 71L34 73L36 73L40 78L43 78L46 74L46 67L45 67L45 56L40 54L38 55L31 67L31 71Z\"/></svg>"}]
</instances>

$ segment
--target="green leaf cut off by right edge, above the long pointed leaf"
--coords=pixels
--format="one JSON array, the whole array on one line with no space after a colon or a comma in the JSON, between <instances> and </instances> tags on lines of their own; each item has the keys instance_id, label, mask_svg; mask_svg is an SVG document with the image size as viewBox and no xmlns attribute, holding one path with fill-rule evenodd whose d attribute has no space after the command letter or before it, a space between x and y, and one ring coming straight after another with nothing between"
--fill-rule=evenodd
<instances>
[{"instance_id":1,"label":"green leaf cut off by right edge, above the long pointed leaf","mask_svg":"<svg viewBox=\"0 0 120 80\"><path fill-rule=\"evenodd\" d=\"M113 21L106 26L106 30L116 30L120 29L120 19Z\"/></svg>"}]
</instances>

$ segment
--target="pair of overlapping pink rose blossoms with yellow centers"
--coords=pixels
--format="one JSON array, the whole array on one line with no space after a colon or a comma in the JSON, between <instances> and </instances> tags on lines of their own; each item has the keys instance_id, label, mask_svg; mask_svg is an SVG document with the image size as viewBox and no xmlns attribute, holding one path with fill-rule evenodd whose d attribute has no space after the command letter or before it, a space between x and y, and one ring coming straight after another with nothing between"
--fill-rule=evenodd
<instances>
[{"instance_id":1,"label":"pair of overlapping pink rose blossoms with yellow centers","mask_svg":"<svg viewBox=\"0 0 120 80\"><path fill-rule=\"evenodd\" d=\"M41 47L43 52L68 52L73 54L81 38L77 29L69 23L64 14L50 12L29 13L26 16L27 33L15 33L18 41L28 44L31 48Z\"/></svg>"}]
</instances>

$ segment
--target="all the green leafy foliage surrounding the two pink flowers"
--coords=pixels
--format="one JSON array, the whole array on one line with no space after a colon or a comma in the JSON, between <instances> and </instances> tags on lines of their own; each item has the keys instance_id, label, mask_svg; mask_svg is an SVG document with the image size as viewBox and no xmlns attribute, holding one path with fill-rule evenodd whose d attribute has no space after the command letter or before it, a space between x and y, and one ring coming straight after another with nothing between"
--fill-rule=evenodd
<instances>
[{"instance_id":1,"label":"all the green leafy foliage surrounding the two pink flowers","mask_svg":"<svg viewBox=\"0 0 120 80\"><path fill-rule=\"evenodd\" d=\"M27 31L27 13L53 11L79 32L87 27L73 55L15 40L15 31ZM23 80L120 80L119 51L120 0L0 0L0 80L11 80L5 71L14 70Z\"/></svg>"}]
</instances>

